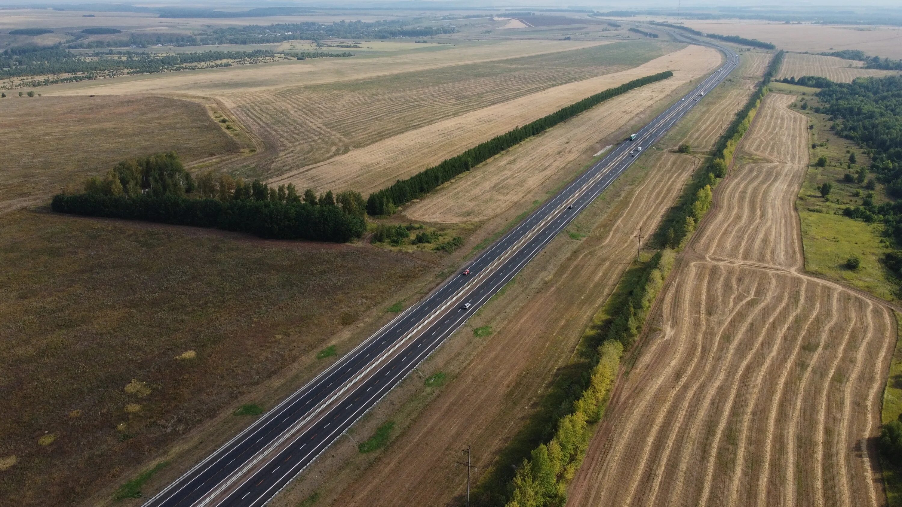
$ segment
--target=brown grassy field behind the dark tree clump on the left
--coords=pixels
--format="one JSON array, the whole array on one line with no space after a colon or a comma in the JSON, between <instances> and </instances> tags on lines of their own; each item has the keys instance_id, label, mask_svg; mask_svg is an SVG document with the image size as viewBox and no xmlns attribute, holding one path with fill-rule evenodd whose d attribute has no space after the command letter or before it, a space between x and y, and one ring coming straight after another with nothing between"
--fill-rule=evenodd
<instances>
[{"instance_id":1,"label":"brown grassy field behind the dark tree clump on the left","mask_svg":"<svg viewBox=\"0 0 902 507\"><path fill-rule=\"evenodd\" d=\"M238 151L203 105L172 98L12 97L0 100L0 117L0 213L41 202L123 158L175 150L190 162Z\"/></svg>"}]
</instances>

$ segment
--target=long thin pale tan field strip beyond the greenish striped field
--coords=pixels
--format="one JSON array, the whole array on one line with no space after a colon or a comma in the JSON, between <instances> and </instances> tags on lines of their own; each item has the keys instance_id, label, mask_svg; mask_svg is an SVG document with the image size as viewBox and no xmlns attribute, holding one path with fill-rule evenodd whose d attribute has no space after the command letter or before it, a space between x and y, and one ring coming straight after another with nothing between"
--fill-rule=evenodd
<instances>
[{"instance_id":1,"label":"long thin pale tan field strip beyond the greenish striped field","mask_svg":"<svg viewBox=\"0 0 902 507\"><path fill-rule=\"evenodd\" d=\"M272 88L353 81L399 72L442 68L557 51L588 48L611 41L462 41L447 49L397 51L387 56L290 60L276 64L115 77L42 87L45 95L190 94L241 96Z\"/></svg>"}]
</instances>

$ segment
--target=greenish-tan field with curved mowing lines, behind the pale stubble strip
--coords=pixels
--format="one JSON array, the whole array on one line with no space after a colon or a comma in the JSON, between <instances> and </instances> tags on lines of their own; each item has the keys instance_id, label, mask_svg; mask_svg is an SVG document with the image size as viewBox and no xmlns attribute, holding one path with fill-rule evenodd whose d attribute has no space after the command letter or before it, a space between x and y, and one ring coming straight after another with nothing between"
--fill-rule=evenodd
<instances>
[{"instance_id":1,"label":"greenish-tan field with curved mowing lines, behind the pale stubble strip","mask_svg":"<svg viewBox=\"0 0 902 507\"><path fill-rule=\"evenodd\" d=\"M623 41L568 50L230 97L242 123L272 145L258 165L277 176L441 119L566 83L611 74L676 46Z\"/></svg>"}]
</instances>

